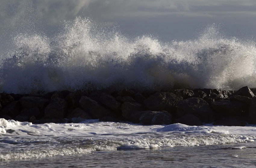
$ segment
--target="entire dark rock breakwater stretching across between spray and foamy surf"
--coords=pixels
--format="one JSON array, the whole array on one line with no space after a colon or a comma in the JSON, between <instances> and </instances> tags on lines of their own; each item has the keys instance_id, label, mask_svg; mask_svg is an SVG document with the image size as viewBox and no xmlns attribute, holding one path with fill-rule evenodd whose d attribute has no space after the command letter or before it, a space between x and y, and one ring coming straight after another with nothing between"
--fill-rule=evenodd
<instances>
[{"instance_id":1,"label":"entire dark rock breakwater stretching across between spray and foamy surf","mask_svg":"<svg viewBox=\"0 0 256 168\"><path fill-rule=\"evenodd\" d=\"M0 94L0 117L32 123L129 121L143 125L245 126L256 124L256 88L238 91L218 89L177 89L138 91L124 88L83 93L53 91L39 95Z\"/></svg>"}]
</instances>

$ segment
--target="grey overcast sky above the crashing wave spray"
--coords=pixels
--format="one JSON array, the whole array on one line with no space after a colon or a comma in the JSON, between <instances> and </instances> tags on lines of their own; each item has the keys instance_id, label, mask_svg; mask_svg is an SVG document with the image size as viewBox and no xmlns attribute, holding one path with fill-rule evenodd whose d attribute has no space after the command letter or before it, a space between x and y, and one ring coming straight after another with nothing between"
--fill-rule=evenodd
<instances>
[{"instance_id":1,"label":"grey overcast sky above the crashing wave spray","mask_svg":"<svg viewBox=\"0 0 256 168\"><path fill-rule=\"evenodd\" d=\"M0 47L13 32L41 29L47 35L61 22L89 16L97 23L117 24L129 36L158 35L162 41L188 40L207 25L223 32L253 37L255 0L0 0Z\"/></svg>"}]
</instances>

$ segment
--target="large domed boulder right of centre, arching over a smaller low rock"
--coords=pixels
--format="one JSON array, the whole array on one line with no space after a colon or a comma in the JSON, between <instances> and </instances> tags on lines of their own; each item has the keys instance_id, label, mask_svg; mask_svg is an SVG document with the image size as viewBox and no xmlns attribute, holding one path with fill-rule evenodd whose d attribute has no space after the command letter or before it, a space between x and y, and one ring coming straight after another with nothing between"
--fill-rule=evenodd
<instances>
[{"instance_id":1,"label":"large domed boulder right of centre, arching over a smaller low rock","mask_svg":"<svg viewBox=\"0 0 256 168\"><path fill-rule=\"evenodd\" d=\"M201 98L188 98L180 101L177 107L177 117L186 114L193 114L198 117L201 122L213 122L214 113L209 104Z\"/></svg>"}]
</instances>

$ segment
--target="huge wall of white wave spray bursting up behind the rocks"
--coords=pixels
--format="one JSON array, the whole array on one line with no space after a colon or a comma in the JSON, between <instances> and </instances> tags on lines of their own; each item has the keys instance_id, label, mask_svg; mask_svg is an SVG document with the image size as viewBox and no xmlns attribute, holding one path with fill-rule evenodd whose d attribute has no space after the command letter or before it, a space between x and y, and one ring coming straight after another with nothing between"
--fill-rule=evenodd
<instances>
[{"instance_id":1,"label":"huge wall of white wave spray bursting up behind the rocks","mask_svg":"<svg viewBox=\"0 0 256 168\"><path fill-rule=\"evenodd\" d=\"M225 37L217 25L196 39L168 43L130 38L82 17L64 22L53 37L28 32L16 34L1 55L1 92L256 87L255 43Z\"/></svg>"}]
</instances>

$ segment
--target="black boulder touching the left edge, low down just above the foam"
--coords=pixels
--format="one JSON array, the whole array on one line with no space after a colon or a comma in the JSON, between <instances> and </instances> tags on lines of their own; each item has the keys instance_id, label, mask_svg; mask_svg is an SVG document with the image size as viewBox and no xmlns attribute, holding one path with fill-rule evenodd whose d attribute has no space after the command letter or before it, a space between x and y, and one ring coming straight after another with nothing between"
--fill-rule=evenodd
<instances>
[{"instance_id":1,"label":"black boulder touching the left edge, low down just above the foam","mask_svg":"<svg viewBox=\"0 0 256 168\"><path fill-rule=\"evenodd\" d=\"M11 103L7 104L1 111L1 115L7 115L15 118L17 115L20 114L20 102L19 101L12 101Z\"/></svg>"}]
</instances>

